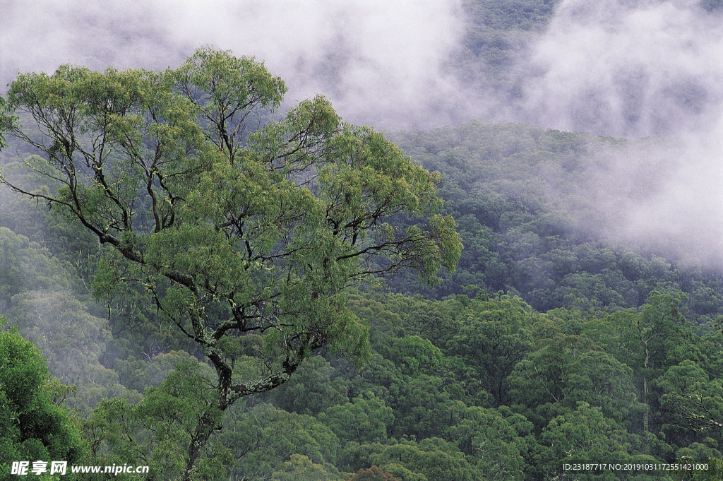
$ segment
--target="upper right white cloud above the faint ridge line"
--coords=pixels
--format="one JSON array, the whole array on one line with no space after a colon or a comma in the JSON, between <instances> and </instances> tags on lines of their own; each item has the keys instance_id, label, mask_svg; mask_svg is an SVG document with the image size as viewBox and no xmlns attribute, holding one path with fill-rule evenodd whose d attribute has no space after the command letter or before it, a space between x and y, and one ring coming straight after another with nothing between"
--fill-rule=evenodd
<instances>
[{"instance_id":1,"label":"upper right white cloud above the faint ridge line","mask_svg":"<svg viewBox=\"0 0 723 481\"><path fill-rule=\"evenodd\" d=\"M523 111L602 135L708 129L723 103L720 20L697 1L562 1L524 60Z\"/></svg>"}]
</instances>

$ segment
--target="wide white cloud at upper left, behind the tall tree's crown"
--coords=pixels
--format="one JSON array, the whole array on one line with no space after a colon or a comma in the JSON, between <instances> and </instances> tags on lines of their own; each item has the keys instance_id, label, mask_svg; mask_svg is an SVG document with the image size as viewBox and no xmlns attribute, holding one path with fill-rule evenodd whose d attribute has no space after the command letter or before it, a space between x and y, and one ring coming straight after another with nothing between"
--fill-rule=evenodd
<instances>
[{"instance_id":1,"label":"wide white cloud at upper left, behind the tall tree's crown","mask_svg":"<svg viewBox=\"0 0 723 481\"><path fill-rule=\"evenodd\" d=\"M387 126L429 124L453 95L440 68L463 33L454 0L6 3L3 85L64 63L162 69L210 44L265 61L291 101L325 93L346 118Z\"/></svg>"}]
</instances>

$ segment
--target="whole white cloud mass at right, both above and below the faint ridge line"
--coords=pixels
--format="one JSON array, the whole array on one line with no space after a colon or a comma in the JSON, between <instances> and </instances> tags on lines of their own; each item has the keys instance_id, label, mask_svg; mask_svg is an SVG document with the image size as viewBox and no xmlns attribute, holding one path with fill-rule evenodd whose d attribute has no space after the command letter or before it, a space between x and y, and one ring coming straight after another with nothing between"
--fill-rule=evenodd
<instances>
[{"instance_id":1,"label":"whole white cloud mass at right, both above and below the faint ridge line","mask_svg":"<svg viewBox=\"0 0 723 481\"><path fill-rule=\"evenodd\" d=\"M591 153L580 189L599 237L723 268L720 20L697 1L565 0L529 46L529 122L657 136Z\"/></svg>"}]
</instances>

